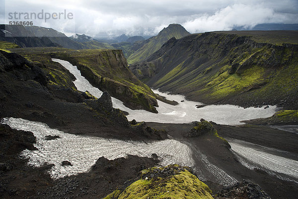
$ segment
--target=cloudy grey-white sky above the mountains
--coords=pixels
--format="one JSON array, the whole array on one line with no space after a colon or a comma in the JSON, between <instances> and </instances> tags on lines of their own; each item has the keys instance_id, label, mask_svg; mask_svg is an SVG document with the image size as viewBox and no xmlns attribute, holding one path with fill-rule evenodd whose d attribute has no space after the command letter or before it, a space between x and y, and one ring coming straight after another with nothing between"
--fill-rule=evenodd
<instances>
[{"instance_id":1,"label":"cloudy grey-white sky above the mountains","mask_svg":"<svg viewBox=\"0 0 298 199\"><path fill-rule=\"evenodd\" d=\"M55 17L59 12L72 13L72 18L45 21L42 14L44 19L33 20L33 25L67 36L156 35L170 23L179 23L190 33L298 23L298 0L0 0L0 23L18 21L14 16L9 19L9 12L42 10Z\"/></svg>"}]
</instances>

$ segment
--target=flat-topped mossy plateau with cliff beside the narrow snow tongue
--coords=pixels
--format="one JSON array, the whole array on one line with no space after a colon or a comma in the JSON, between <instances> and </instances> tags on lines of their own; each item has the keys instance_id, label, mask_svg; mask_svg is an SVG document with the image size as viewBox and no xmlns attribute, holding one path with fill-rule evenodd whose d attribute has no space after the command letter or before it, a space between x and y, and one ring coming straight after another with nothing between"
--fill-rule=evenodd
<instances>
[{"instance_id":1,"label":"flat-topped mossy plateau with cliff beside the narrow snow tongue","mask_svg":"<svg viewBox=\"0 0 298 199\"><path fill-rule=\"evenodd\" d=\"M153 92L128 70L126 60L119 50L70 50L52 47L12 50L31 61L43 59L43 56L47 59L51 56L68 60L77 65L81 73L95 86L123 100L131 108L156 112L153 105L157 105L157 102ZM63 79L60 71L51 71L51 74L54 79Z\"/></svg>"}]
</instances>

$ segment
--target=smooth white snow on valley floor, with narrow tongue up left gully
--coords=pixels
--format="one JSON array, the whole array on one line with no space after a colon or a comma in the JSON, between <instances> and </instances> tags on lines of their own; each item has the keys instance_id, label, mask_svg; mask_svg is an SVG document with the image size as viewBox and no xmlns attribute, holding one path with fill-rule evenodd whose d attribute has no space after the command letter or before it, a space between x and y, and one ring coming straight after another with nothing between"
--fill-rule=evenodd
<instances>
[{"instance_id":1,"label":"smooth white snow on valley floor, with narrow tongue up left gully","mask_svg":"<svg viewBox=\"0 0 298 199\"><path fill-rule=\"evenodd\" d=\"M72 74L74 74L76 80L74 85L78 91L85 92L88 91L90 94L99 98L102 92L94 88L83 76L81 76L80 71L73 66L71 63L60 60L52 59L55 62L59 62L66 69L68 69ZM162 101L157 100L159 107L156 107L158 113L151 113L146 110L132 110L125 105L120 100L112 98L113 106L115 108L120 108L121 110L129 112L127 118L129 120L136 119L137 121L147 121L147 122L159 122L159 123L189 123L192 121L200 121L204 118L208 121L219 124L228 125L239 125L241 120L249 120L260 117L270 117L278 108L276 106L270 106L269 108L243 108L235 105L208 105L202 108L196 108L197 104L202 104L200 102L185 100L184 96L181 95L169 95L166 93L161 93L158 90L153 90L154 93L160 96L166 97L168 100L175 100L178 105L170 105ZM181 102L181 100L184 100Z\"/></svg>"}]
</instances>

